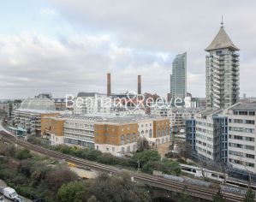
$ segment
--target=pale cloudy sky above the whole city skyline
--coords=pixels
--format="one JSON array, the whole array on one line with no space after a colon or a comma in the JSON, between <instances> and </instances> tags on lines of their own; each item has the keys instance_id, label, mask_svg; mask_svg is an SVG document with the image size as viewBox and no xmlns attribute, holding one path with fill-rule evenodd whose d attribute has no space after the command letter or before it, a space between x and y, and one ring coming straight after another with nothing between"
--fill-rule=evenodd
<instances>
[{"instance_id":1,"label":"pale cloudy sky above the whole city skyline","mask_svg":"<svg viewBox=\"0 0 256 202\"><path fill-rule=\"evenodd\" d=\"M78 92L170 92L187 52L188 92L205 97L205 48L224 29L240 48L240 92L256 96L256 1L3 0L0 99Z\"/></svg>"}]
</instances>

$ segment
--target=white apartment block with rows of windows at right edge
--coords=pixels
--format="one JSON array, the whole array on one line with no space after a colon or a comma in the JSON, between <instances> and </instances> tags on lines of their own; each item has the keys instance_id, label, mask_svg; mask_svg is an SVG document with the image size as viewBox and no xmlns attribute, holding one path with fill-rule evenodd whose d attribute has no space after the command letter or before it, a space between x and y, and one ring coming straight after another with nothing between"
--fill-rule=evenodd
<instances>
[{"instance_id":1,"label":"white apartment block with rows of windows at right edge","mask_svg":"<svg viewBox=\"0 0 256 202\"><path fill-rule=\"evenodd\" d=\"M256 104L235 104L229 117L229 163L234 169L256 174Z\"/></svg>"}]
</instances>

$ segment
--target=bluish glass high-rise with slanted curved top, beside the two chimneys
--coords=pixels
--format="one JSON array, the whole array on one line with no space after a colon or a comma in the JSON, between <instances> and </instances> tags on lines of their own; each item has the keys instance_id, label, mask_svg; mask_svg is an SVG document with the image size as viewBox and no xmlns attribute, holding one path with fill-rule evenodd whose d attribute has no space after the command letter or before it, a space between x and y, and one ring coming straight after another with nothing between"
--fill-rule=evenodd
<instances>
[{"instance_id":1,"label":"bluish glass high-rise with slanted curved top, beside the two chimneys","mask_svg":"<svg viewBox=\"0 0 256 202\"><path fill-rule=\"evenodd\" d=\"M187 96L187 52L176 56L172 63L172 98Z\"/></svg>"}]
</instances>

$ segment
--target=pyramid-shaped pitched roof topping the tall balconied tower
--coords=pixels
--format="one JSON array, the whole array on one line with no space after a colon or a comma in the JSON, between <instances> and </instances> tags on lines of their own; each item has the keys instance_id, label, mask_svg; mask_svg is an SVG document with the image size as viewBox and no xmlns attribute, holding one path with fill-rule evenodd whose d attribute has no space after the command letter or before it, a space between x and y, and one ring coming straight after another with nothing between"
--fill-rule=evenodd
<instances>
[{"instance_id":1,"label":"pyramid-shaped pitched roof topping the tall balconied tower","mask_svg":"<svg viewBox=\"0 0 256 202\"><path fill-rule=\"evenodd\" d=\"M224 48L230 48L232 50L239 50L231 39L229 38L229 35L225 32L223 27L220 27L220 30L218 31L216 37L211 42L211 45L209 45L205 51L210 50L217 50L217 49L224 49Z\"/></svg>"}]
</instances>

